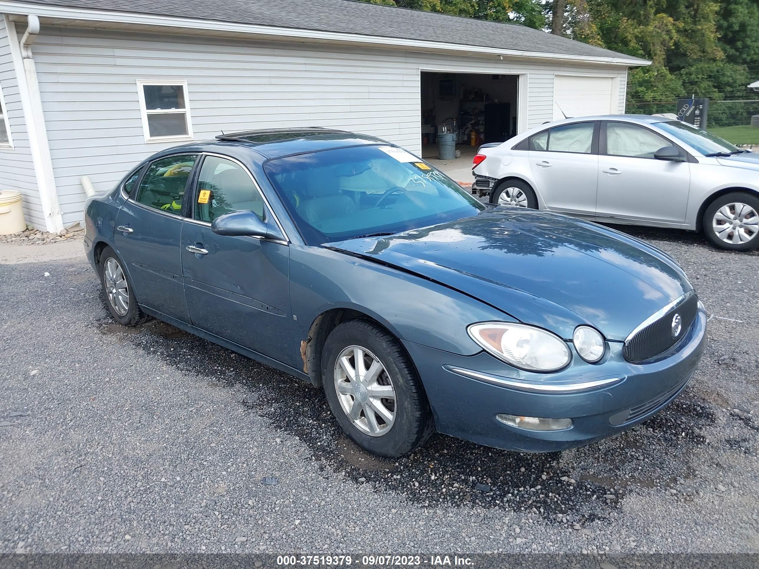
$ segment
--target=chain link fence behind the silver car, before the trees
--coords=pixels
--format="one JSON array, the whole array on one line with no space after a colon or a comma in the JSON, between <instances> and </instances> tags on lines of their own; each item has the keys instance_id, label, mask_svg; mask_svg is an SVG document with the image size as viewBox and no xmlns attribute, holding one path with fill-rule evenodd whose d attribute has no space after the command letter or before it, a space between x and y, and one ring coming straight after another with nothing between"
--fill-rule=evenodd
<instances>
[{"instance_id":1,"label":"chain link fence behind the silver car, before the trees","mask_svg":"<svg viewBox=\"0 0 759 569\"><path fill-rule=\"evenodd\" d=\"M677 112L677 101L628 102L631 115L656 115ZM707 130L733 144L759 144L759 127L751 127L751 117L759 116L759 99L710 101ZM759 121L757 118L754 121Z\"/></svg>"}]
</instances>

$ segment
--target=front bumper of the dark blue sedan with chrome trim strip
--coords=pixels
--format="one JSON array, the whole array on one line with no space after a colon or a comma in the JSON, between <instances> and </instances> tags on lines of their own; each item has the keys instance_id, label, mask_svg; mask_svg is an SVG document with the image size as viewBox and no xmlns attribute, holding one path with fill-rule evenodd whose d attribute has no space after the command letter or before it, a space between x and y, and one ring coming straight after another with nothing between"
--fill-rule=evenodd
<instances>
[{"instance_id":1,"label":"front bumper of the dark blue sedan with chrome trim strip","mask_svg":"<svg viewBox=\"0 0 759 569\"><path fill-rule=\"evenodd\" d=\"M506 450L553 452L615 435L671 403L685 389L701 360L706 322L706 314L699 310L679 350L665 360L629 363L622 357L622 344L609 342L601 363L587 364L572 354L573 363L568 368L550 374L524 372L484 352L459 356L411 342L405 346L419 370L439 432ZM496 385L462 374L462 369L538 389L579 383L590 387L582 391L540 391ZM618 381L593 386L604 379ZM572 427L529 431L499 422L499 413L570 418Z\"/></svg>"}]
</instances>

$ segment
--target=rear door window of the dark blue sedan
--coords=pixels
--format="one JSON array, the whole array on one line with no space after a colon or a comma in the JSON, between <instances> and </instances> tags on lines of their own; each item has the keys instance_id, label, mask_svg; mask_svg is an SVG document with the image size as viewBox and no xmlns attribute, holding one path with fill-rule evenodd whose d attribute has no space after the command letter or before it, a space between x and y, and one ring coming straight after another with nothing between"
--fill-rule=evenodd
<instances>
[{"instance_id":1,"label":"rear door window of the dark blue sedan","mask_svg":"<svg viewBox=\"0 0 759 569\"><path fill-rule=\"evenodd\" d=\"M180 154L153 162L140 182L135 201L181 215L184 190L196 160L197 154Z\"/></svg>"}]
</instances>

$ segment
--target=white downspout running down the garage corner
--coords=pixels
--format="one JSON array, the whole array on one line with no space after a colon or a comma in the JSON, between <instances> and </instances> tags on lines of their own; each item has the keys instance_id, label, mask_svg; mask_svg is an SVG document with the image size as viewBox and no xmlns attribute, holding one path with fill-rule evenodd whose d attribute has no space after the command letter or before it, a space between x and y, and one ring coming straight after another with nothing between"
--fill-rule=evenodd
<instances>
[{"instance_id":1,"label":"white downspout running down the garage corner","mask_svg":"<svg viewBox=\"0 0 759 569\"><path fill-rule=\"evenodd\" d=\"M43 103L39 96L39 81L34 64L31 46L39 33L39 17L27 16L27 30L18 41L16 27L5 16L5 27L11 43L11 57L14 59L18 80L21 105L29 133L29 146L34 163L34 173L42 202L47 231L58 233L63 229L61 206L58 203L58 191L55 187L55 174L52 168L50 146L47 137ZM15 40L15 41L14 41ZM15 45L14 45L15 44ZM23 76L20 71L23 70Z\"/></svg>"}]
</instances>

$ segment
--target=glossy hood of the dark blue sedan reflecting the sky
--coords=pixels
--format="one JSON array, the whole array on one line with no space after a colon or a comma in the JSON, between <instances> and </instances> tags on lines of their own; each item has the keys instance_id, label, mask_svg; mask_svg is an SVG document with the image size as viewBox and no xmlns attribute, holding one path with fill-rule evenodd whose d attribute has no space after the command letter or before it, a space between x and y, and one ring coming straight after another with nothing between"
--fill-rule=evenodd
<instances>
[{"instance_id":1,"label":"glossy hood of the dark blue sedan reflecting the sky","mask_svg":"<svg viewBox=\"0 0 759 569\"><path fill-rule=\"evenodd\" d=\"M588 324L623 341L692 289L676 262L640 240L512 207L325 247L430 278L565 339Z\"/></svg>"}]
</instances>

